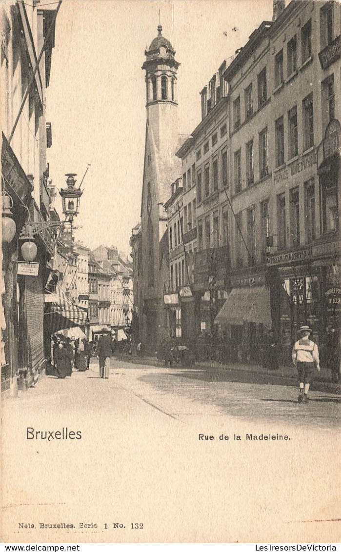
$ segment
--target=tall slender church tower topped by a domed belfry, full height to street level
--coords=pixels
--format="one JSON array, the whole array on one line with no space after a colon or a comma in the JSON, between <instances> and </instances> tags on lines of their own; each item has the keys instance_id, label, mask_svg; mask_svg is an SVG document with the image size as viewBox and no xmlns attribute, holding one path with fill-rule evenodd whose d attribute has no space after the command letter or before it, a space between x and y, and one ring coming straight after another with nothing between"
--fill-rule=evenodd
<instances>
[{"instance_id":1,"label":"tall slender church tower topped by a domed belfry, full height to street level","mask_svg":"<svg viewBox=\"0 0 341 552\"><path fill-rule=\"evenodd\" d=\"M177 130L177 69L170 41L158 36L145 51L146 135L143 189L141 198L141 261L139 277L140 338L146 349L155 352L167 333L164 292L169 289L167 213L164 204L170 185L181 174L175 157L180 147Z\"/></svg>"}]
</instances>

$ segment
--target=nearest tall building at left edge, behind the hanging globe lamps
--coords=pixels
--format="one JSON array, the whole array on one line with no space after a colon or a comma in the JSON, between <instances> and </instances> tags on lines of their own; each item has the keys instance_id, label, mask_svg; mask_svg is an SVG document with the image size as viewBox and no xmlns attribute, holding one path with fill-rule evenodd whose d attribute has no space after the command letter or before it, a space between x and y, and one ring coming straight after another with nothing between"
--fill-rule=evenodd
<instances>
[{"instance_id":1,"label":"nearest tall building at left edge, behind the hanging globe lamps","mask_svg":"<svg viewBox=\"0 0 341 552\"><path fill-rule=\"evenodd\" d=\"M37 229L49 220L46 149L51 145L51 124L46 121L45 108L57 9L59 6L46 3L40 7L40 2L0 5L3 201L13 215L6 227L12 225L13 229L15 222L14 235L3 233L4 317L0 316L6 328L2 325L1 379L2 391L14 393L17 381L22 386L34 385L45 365L44 285L53 240L47 229L35 233L36 273L33 265L18 265L24 260L18 238L22 230L27 235L32 228L27 222Z\"/></svg>"}]
</instances>

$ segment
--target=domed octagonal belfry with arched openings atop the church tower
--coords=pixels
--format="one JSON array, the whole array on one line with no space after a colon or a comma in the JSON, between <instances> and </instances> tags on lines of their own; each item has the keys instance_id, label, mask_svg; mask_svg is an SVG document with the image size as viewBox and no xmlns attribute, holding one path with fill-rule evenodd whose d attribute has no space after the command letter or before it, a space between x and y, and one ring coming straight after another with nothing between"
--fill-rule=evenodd
<instances>
[{"instance_id":1,"label":"domed octagonal belfry with arched openings atop the church tower","mask_svg":"<svg viewBox=\"0 0 341 552\"><path fill-rule=\"evenodd\" d=\"M162 36L162 25L158 25L158 36L144 53L146 60L142 68L146 72L147 105L159 102L177 105L176 73L180 63L175 60L170 41Z\"/></svg>"}]
</instances>

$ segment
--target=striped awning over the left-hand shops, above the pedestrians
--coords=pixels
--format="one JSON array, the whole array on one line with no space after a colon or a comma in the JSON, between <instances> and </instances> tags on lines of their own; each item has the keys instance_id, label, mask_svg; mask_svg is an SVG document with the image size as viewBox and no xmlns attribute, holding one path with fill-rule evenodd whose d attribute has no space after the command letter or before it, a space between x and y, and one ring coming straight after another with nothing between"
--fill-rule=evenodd
<instances>
[{"instance_id":1,"label":"striped awning over the left-hand shops, above the pedestrians","mask_svg":"<svg viewBox=\"0 0 341 552\"><path fill-rule=\"evenodd\" d=\"M87 323L87 312L77 307L58 284L54 294L45 295L44 317L50 335Z\"/></svg>"}]
</instances>

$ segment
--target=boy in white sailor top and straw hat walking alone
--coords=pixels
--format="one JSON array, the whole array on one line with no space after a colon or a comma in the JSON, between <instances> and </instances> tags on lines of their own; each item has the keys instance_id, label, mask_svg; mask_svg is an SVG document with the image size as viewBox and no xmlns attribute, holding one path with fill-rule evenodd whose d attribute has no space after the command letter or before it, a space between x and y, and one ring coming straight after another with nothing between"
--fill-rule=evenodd
<instances>
[{"instance_id":1,"label":"boy in white sailor top and straw hat walking alone","mask_svg":"<svg viewBox=\"0 0 341 552\"><path fill-rule=\"evenodd\" d=\"M299 333L301 338L292 348L291 358L298 372L300 394L298 402L308 402L308 391L314 373L314 367L320 371L317 344L309 339L312 330L309 326L301 326Z\"/></svg>"}]
</instances>

